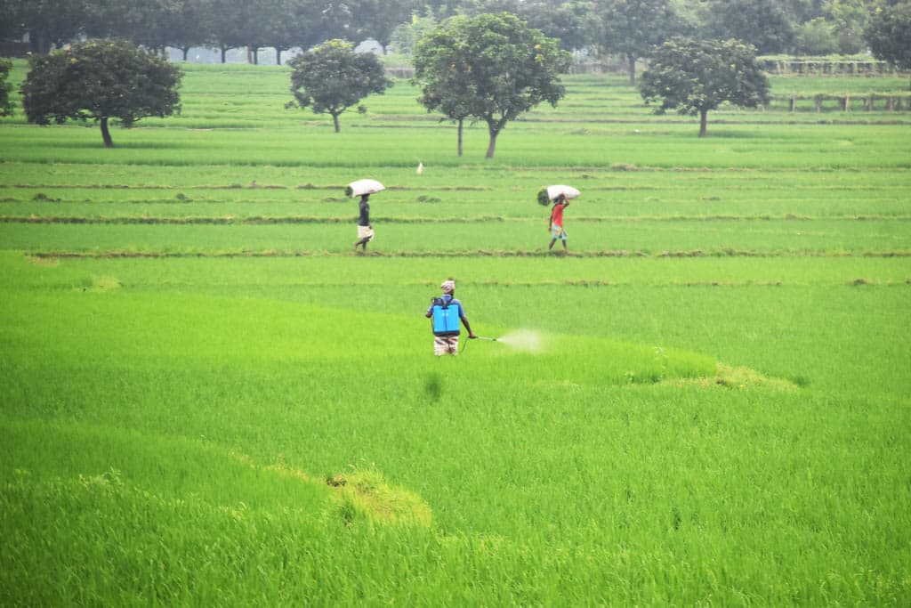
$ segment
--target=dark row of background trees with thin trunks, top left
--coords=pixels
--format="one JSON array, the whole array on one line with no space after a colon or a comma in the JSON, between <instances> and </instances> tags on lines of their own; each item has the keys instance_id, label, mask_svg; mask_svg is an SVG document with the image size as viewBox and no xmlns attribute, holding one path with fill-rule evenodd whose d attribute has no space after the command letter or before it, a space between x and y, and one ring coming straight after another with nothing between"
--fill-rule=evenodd
<instances>
[{"instance_id":1,"label":"dark row of background trees with thin trunks, top left","mask_svg":"<svg viewBox=\"0 0 911 608\"><path fill-rule=\"evenodd\" d=\"M123 38L150 49L263 47L281 53L331 38L387 45L415 3L385 0L0 0L0 38L29 36L46 54L81 37Z\"/></svg>"}]
</instances>

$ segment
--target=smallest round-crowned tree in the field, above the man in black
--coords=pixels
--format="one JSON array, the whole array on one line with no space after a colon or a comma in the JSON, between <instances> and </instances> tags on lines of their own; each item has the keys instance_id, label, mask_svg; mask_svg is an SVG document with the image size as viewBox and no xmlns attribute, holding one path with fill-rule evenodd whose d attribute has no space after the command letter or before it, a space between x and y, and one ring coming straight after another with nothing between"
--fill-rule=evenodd
<instances>
[{"instance_id":1,"label":"smallest round-crowned tree in the field, above the man in black","mask_svg":"<svg viewBox=\"0 0 911 608\"><path fill-rule=\"evenodd\" d=\"M329 40L294 57L289 106L312 107L314 114L328 112L339 132L339 115L371 93L382 95L392 87L383 65L372 53L355 53L350 42ZM366 111L363 106L359 112Z\"/></svg>"}]
</instances>

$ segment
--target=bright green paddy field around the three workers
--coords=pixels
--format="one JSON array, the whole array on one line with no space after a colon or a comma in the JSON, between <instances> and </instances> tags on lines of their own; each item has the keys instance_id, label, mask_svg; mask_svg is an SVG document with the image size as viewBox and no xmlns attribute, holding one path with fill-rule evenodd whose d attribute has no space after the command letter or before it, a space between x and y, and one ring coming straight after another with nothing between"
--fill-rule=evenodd
<instances>
[{"instance_id":1,"label":"bright green paddy field around the three workers","mask_svg":"<svg viewBox=\"0 0 911 608\"><path fill-rule=\"evenodd\" d=\"M114 149L0 119L0 603L911 603L911 112L568 77L486 161L186 69ZM432 355L447 277L499 341Z\"/></svg>"}]
</instances>

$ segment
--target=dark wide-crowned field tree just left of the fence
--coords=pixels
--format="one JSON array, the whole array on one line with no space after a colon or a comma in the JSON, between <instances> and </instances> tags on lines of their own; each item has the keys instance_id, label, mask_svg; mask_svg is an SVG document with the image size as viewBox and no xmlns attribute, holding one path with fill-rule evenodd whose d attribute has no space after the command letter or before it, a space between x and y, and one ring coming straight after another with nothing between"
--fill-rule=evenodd
<instances>
[{"instance_id":1,"label":"dark wide-crowned field tree just left of the fence","mask_svg":"<svg viewBox=\"0 0 911 608\"><path fill-rule=\"evenodd\" d=\"M769 100L769 80L756 61L756 49L739 40L673 38L661 45L642 74L640 93L657 113L676 108L698 114L705 137L709 110L727 101L755 108Z\"/></svg>"}]
</instances>

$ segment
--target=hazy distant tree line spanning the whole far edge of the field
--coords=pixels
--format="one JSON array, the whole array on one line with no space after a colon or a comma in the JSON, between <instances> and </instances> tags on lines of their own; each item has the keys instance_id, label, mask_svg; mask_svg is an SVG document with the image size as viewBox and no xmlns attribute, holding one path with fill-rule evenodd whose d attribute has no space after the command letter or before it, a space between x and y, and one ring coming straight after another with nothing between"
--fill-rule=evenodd
<instances>
[{"instance_id":1,"label":"hazy distant tree line spanning the whole far edge of the field","mask_svg":"<svg viewBox=\"0 0 911 608\"><path fill-rule=\"evenodd\" d=\"M876 15L908 0L0 0L0 36L28 33L36 52L79 36L148 48L274 47L277 59L323 40L373 38L411 52L445 17L508 12L566 50L635 60L673 36L737 38L761 54L856 53L878 39ZM870 32L870 27L875 28ZM418 30L415 32L415 29Z\"/></svg>"}]
</instances>

